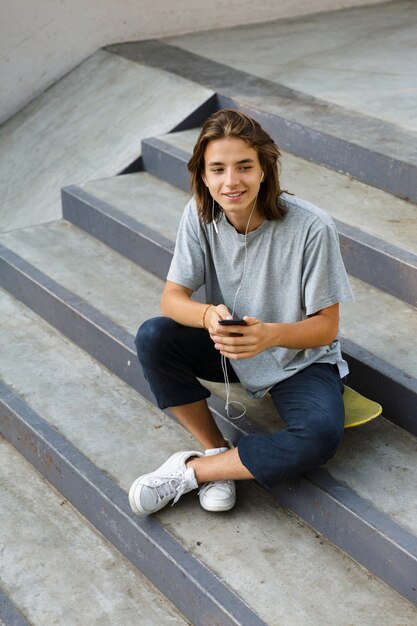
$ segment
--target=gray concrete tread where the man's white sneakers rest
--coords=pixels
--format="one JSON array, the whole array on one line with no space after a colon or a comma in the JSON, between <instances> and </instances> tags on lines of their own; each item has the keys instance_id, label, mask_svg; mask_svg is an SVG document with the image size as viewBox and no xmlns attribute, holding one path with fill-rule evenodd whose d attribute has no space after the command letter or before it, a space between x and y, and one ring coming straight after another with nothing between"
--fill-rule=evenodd
<instances>
[{"instance_id":1,"label":"gray concrete tread where the man's white sneakers rest","mask_svg":"<svg viewBox=\"0 0 417 626\"><path fill-rule=\"evenodd\" d=\"M195 447L179 425L20 303L7 294L0 302L10 344L1 355L3 380L124 490L171 452ZM225 515L203 511L191 493L157 518L270 626L415 622L416 607L257 485L239 484L238 494Z\"/></svg>"}]
</instances>

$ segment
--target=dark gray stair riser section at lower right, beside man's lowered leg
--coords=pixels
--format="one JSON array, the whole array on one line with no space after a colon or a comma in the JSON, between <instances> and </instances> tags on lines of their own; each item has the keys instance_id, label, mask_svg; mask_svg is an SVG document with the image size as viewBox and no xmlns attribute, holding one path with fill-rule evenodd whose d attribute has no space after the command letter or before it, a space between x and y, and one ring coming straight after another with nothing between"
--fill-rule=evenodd
<instances>
[{"instance_id":1,"label":"dark gray stair riser section at lower right, beside man's lowered leg","mask_svg":"<svg viewBox=\"0 0 417 626\"><path fill-rule=\"evenodd\" d=\"M417 540L318 469L272 490L279 502L417 604ZM401 546L401 547L400 547Z\"/></svg>"}]
</instances>

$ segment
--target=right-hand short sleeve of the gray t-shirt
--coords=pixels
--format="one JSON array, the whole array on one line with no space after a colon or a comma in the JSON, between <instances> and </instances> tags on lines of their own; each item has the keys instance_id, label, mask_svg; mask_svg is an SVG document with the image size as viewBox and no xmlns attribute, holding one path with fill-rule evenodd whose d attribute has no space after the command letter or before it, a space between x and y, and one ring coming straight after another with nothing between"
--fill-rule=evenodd
<instances>
[{"instance_id":1,"label":"right-hand short sleeve of the gray t-shirt","mask_svg":"<svg viewBox=\"0 0 417 626\"><path fill-rule=\"evenodd\" d=\"M302 296L307 316L338 302L353 300L336 227L330 219L320 224L306 244Z\"/></svg>"}]
</instances>

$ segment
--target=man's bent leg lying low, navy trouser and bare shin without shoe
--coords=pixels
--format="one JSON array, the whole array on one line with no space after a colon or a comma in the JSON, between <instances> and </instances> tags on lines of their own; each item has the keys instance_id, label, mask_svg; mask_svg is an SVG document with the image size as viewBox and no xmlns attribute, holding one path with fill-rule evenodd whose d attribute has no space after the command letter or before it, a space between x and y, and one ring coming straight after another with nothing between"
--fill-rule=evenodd
<instances>
[{"instance_id":1,"label":"man's bent leg lying low, navy trouser and bare shin without shoe","mask_svg":"<svg viewBox=\"0 0 417 626\"><path fill-rule=\"evenodd\" d=\"M343 435L343 384L333 366L316 364L279 383L272 399L288 427L242 437L216 458L190 458L197 481L256 478L267 487L323 465Z\"/></svg>"}]
</instances>

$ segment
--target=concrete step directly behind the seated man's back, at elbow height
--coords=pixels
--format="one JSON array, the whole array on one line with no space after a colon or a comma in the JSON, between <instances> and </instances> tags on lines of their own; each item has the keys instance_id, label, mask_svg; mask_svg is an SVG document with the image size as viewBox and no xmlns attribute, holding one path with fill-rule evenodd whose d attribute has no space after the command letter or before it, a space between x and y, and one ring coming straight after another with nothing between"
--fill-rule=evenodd
<instances>
[{"instance_id":1,"label":"concrete step directly behind the seated man's back, at elbow height","mask_svg":"<svg viewBox=\"0 0 417 626\"><path fill-rule=\"evenodd\" d=\"M148 162L146 154L144 158ZM135 263L165 278L188 197L140 172L66 188L63 213ZM5 245L12 241L7 237L0 239ZM417 331L415 309L358 279L352 278L352 283L357 301L342 307L343 348L352 386L377 399L389 419L417 434L417 364L409 342ZM384 315L375 316L376 310L384 311ZM369 328L373 328L371 336Z\"/></svg>"}]
</instances>

